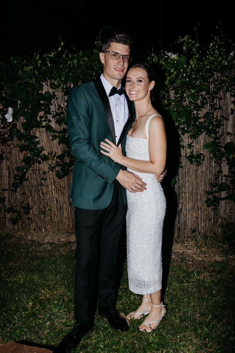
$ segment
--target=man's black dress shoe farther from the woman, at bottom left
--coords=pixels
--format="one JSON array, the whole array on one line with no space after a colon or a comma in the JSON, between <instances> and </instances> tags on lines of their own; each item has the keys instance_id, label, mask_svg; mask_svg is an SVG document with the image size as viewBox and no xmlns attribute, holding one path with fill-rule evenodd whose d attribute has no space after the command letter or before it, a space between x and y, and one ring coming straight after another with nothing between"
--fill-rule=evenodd
<instances>
[{"instance_id":1,"label":"man's black dress shoe farther from the woman, at bottom left","mask_svg":"<svg viewBox=\"0 0 235 353\"><path fill-rule=\"evenodd\" d=\"M94 329L93 325L84 325L80 322L76 322L70 333L68 333L60 344L58 345L57 352L58 353L70 353L74 348L76 348L81 339L87 332L92 332Z\"/></svg>"}]
</instances>

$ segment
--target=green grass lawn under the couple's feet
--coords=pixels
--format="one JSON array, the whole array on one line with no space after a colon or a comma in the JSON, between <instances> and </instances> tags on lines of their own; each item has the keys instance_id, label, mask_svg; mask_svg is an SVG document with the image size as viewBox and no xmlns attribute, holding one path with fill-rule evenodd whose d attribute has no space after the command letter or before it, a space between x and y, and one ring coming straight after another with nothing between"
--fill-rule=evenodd
<instances>
[{"instance_id":1,"label":"green grass lawn under the couple's feet","mask_svg":"<svg viewBox=\"0 0 235 353\"><path fill-rule=\"evenodd\" d=\"M0 247L0 343L28 342L56 351L74 324L75 250L68 244L34 241L5 241ZM168 312L156 330L141 332L141 322L132 319L130 330L121 333L97 314L93 333L74 352L235 352L234 267L172 260L165 295ZM128 314L140 300L128 289L125 264L117 308Z\"/></svg>"}]
</instances>

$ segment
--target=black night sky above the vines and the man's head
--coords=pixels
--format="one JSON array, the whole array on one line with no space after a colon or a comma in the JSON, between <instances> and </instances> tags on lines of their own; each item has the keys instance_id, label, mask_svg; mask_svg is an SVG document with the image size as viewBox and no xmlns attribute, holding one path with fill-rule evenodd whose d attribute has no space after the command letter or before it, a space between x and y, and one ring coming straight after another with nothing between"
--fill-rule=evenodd
<instances>
[{"instance_id":1,"label":"black night sky above the vines and the man's head","mask_svg":"<svg viewBox=\"0 0 235 353\"><path fill-rule=\"evenodd\" d=\"M154 4L154 9L150 4ZM194 28L198 24L197 33L204 45L210 42L219 21L224 32L234 40L234 11L228 2L216 7L215 2L206 0L142 1L141 6L127 1L91 5L91 2L76 0L8 0L1 5L1 10L1 60L11 55L30 56L37 50L49 52L59 46L60 35L67 49L72 50L71 45L78 50L93 49L99 32L107 26L132 36L132 54L136 56L148 51L152 44L156 52L159 41L169 50L179 36L195 37ZM109 31L105 28L102 33Z\"/></svg>"}]
</instances>

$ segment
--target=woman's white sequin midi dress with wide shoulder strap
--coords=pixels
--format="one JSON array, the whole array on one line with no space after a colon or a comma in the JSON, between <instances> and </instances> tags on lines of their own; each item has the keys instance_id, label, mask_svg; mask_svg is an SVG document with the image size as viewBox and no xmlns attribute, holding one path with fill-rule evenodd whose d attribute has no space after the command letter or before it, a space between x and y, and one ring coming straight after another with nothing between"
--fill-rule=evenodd
<instances>
[{"instance_id":1,"label":"woman's white sequin midi dress with wide shoulder strap","mask_svg":"<svg viewBox=\"0 0 235 353\"><path fill-rule=\"evenodd\" d=\"M148 137L149 122L145 127ZM126 156L149 161L148 138L127 135ZM161 184L154 174L140 173L147 190L132 193L127 191L128 211L126 215L127 264L129 288L136 294L155 293L162 282L162 227L166 211L166 199Z\"/></svg>"}]
</instances>

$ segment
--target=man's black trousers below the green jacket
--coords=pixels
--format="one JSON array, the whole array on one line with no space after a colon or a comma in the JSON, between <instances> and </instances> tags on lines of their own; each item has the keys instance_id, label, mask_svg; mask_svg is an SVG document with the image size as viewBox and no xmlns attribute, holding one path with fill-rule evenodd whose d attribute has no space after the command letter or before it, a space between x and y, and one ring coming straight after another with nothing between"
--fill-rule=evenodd
<instances>
[{"instance_id":1,"label":"man's black trousers below the green jacket","mask_svg":"<svg viewBox=\"0 0 235 353\"><path fill-rule=\"evenodd\" d=\"M116 304L120 243L127 206L122 187L114 181L110 205L102 210L75 207L75 295L74 317L77 322L94 321L97 306Z\"/></svg>"}]
</instances>

